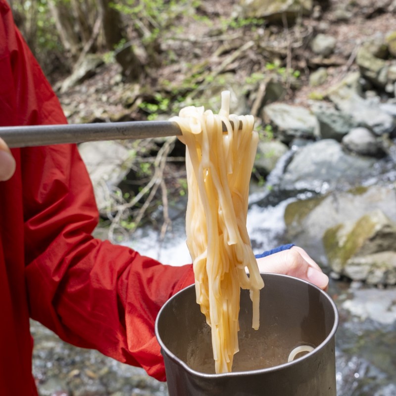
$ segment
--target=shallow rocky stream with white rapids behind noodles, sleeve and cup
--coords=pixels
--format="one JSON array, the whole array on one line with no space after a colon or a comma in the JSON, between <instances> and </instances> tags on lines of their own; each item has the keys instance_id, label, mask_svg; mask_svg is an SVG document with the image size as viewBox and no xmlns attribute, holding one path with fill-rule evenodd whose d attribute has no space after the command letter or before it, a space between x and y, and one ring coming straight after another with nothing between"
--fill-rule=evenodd
<instances>
[{"instance_id":1,"label":"shallow rocky stream with white rapids behind noodles, sleeve and cup","mask_svg":"<svg viewBox=\"0 0 396 396\"><path fill-rule=\"evenodd\" d=\"M262 197L263 193L251 194L247 219L255 253L286 242L283 214L294 199L263 209L255 204ZM164 241L159 242L158 233L143 227L125 245L163 263L190 262L184 205L173 209L171 215L172 229ZM326 268L324 271L328 272ZM329 294L340 313L336 334L337 394L395 396L396 288L379 289L330 276ZM167 395L166 384L148 377L142 369L123 365L94 350L65 344L34 321L32 334L34 374L41 396Z\"/></svg>"}]
</instances>

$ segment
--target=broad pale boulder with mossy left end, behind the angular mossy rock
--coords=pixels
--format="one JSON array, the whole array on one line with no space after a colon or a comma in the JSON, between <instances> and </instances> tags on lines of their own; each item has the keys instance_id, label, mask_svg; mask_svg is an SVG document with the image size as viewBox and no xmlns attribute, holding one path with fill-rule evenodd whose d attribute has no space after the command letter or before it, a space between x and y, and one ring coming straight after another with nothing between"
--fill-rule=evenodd
<instances>
[{"instance_id":1,"label":"broad pale boulder with mossy left end, behind the angular mossy rock","mask_svg":"<svg viewBox=\"0 0 396 396\"><path fill-rule=\"evenodd\" d=\"M285 210L287 237L309 251L313 259L327 264L328 257L323 247L326 230L339 224L354 223L376 209L396 222L396 184L390 187L361 187L299 199L289 203Z\"/></svg>"}]
</instances>

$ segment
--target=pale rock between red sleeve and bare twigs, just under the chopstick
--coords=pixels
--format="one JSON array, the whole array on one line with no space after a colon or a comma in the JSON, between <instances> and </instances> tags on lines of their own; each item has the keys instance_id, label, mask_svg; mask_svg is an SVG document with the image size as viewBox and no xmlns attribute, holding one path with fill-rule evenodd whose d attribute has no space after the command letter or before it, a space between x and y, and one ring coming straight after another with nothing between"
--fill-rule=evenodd
<instances>
[{"instance_id":1,"label":"pale rock between red sleeve and bare twigs, just under the chopstick","mask_svg":"<svg viewBox=\"0 0 396 396\"><path fill-rule=\"evenodd\" d=\"M79 151L94 186L99 213L106 215L120 203L119 197L113 194L114 188L128 174L134 152L113 141L82 143Z\"/></svg>"}]
</instances>

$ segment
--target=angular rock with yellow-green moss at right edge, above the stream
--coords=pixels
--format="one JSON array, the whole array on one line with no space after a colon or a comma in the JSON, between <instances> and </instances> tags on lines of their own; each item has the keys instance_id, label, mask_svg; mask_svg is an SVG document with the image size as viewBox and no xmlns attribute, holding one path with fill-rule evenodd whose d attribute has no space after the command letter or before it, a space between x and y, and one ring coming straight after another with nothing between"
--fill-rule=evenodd
<instances>
[{"instance_id":1,"label":"angular rock with yellow-green moss at right edge, above the stream","mask_svg":"<svg viewBox=\"0 0 396 396\"><path fill-rule=\"evenodd\" d=\"M332 270L371 284L396 283L395 240L396 223L380 209L337 224L323 235Z\"/></svg>"}]
</instances>

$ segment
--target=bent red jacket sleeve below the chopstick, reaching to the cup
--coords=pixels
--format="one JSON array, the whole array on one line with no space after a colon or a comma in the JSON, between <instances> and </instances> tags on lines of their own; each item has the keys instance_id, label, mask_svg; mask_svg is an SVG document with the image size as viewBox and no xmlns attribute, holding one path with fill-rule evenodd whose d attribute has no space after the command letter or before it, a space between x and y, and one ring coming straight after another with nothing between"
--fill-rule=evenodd
<instances>
[{"instance_id":1,"label":"bent red jacket sleeve below the chopstick, reaching to the cup","mask_svg":"<svg viewBox=\"0 0 396 396\"><path fill-rule=\"evenodd\" d=\"M26 148L21 158L32 318L164 380L154 322L169 297L194 283L192 265L162 265L91 236L98 212L75 146Z\"/></svg>"}]
</instances>

